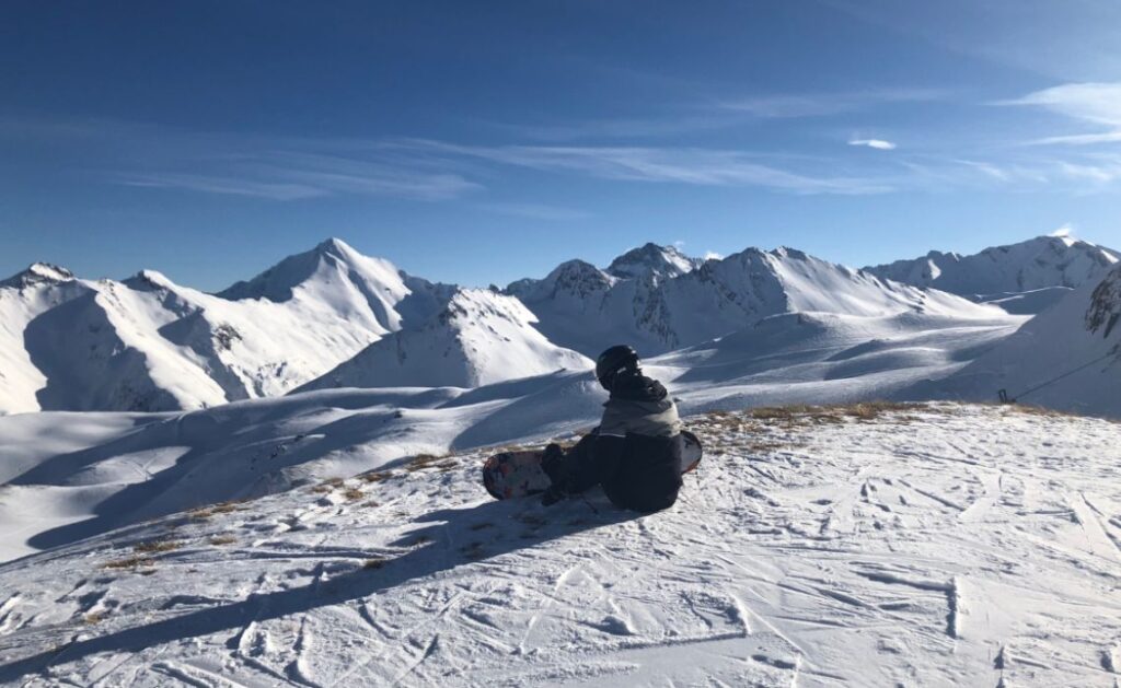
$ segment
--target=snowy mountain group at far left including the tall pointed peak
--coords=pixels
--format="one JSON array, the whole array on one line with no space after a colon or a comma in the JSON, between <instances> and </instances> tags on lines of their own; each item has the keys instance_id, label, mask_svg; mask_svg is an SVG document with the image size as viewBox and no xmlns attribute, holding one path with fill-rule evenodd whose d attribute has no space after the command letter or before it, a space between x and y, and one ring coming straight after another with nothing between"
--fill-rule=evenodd
<instances>
[{"instance_id":1,"label":"snowy mountain group at far left including the tall pointed peak","mask_svg":"<svg viewBox=\"0 0 1121 688\"><path fill-rule=\"evenodd\" d=\"M173 410L281 394L441 308L452 288L339 240L220 296L145 270L36 264L0 286L0 411Z\"/></svg>"}]
</instances>

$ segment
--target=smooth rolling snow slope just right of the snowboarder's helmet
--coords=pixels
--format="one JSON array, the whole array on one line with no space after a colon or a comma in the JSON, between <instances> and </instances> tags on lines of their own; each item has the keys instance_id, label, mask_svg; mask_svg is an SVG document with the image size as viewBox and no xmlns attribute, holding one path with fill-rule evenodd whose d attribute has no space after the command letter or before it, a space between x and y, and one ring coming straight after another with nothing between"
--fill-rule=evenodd
<instances>
[{"instance_id":1,"label":"smooth rolling snow slope just right of the snowboarder's helmet","mask_svg":"<svg viewBox=\"0 0 1121 688\"><path fill-rule=\"evenodd\" d=\"M1022 322L788 313L651 363L697 408L884 399L960 371Z\"/></svg>"}]
</instances>

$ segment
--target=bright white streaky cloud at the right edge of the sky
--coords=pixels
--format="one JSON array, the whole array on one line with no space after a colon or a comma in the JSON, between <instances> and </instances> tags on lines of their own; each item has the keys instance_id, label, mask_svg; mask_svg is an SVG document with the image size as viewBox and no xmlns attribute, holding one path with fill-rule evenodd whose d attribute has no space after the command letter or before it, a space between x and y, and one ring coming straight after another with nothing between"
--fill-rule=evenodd
<instances>
[{"instance_id":1,"label":"bright white streaky cloud at the right edge of the sky","mask_svg":"<svg viewBox=\"0 0 1121 688\"><path fill-rule=\"evenodd\" d=\"M1034 145L1093 145L1121 141L1121 83L1063 84L1016 100L1001 101L998 104L1044 108L1074 120L1105 128L1088 133L1035 139L1030 141Z\"/></svg>"}]
</instances>

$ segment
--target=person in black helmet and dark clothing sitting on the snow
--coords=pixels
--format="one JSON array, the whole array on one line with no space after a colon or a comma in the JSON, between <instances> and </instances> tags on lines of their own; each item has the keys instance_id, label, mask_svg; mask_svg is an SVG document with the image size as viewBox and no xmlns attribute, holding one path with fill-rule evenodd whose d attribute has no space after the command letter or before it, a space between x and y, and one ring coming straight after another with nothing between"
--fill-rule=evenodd
<instances>
[{"instance_id":1,"label":"person in black helmet and dark clothing sitting on the snow","mask_svg":"<svg viewBox=\"0 0 1121 688\"><path fill-rule=\"evenodd\" d=\"M546 448L541 467L552 485L541 504L602 485L620 509L671 506L682 487L682 424L673 399L642 374L638 354L627 345L600 354L595 376L611 394L603 420L567 453L557 445Z\"/></svg>"}]
</instances>

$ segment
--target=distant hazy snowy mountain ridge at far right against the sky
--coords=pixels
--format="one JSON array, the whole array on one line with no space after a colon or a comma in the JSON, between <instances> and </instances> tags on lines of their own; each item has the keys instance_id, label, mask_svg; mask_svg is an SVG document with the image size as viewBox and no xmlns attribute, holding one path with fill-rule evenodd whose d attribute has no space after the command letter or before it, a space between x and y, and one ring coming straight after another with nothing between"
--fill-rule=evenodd
<instances>
[{"instance_id":1,"label":"distant hazy snowy mountain ridge at far right against the sky","mask_svg":"<svg viewBox=\"0 0 1121 688\"><path fill-rule=\"evenodd\" d=\"M883 279L999 303L1010 313L1035 314L1069 289L1102 279L1119 255L1071 236L1038 236L973 255L930 251L864 269Z\"/></svg>"}]
</instances>

